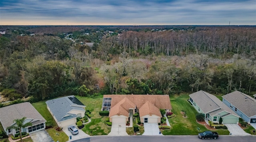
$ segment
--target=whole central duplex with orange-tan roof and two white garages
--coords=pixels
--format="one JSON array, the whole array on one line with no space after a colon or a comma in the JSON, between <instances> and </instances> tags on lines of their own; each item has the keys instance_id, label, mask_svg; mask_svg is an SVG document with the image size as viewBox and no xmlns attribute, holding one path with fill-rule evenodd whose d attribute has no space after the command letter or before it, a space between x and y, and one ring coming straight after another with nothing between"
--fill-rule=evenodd
<instances>
[{"instance_id":1,"label":"whole central duplex with orange-tan roof and two white garages","mask_svg":"<svg viewBox=\"0 0 256 142\"><path fill-rule=\"evenodd\" d=\"M171 112L169 95L103 96L102 110L109 111L110 122L126 123L138 112L142 123L158 123L162 117L160 109Z\"/></svg>"}]
</instances>

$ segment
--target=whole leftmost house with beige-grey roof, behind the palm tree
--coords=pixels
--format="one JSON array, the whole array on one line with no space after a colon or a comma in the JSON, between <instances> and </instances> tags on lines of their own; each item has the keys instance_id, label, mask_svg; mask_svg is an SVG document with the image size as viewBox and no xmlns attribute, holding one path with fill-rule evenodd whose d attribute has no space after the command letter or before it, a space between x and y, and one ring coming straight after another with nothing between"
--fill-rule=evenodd
<instances>
[{"instance_id":1,"label":"whole leftmost house with beige-grey roof, behind the palm tree","mask_svg":"<svg viewBox=\"0 0 256 142\"><path fill-rule=\"evenodd\" d=\"M19 129L6 130L6 128L16 125L16 123L13 122L14 119L21 119L23 117L26 117L24 124L31 122L32 126L22 128L21 132L31 133L45 128L46 120L29 102L0 108L0 122L7 135L12 134L14 136L20 133Z\"/></svg>"}]
</instances>

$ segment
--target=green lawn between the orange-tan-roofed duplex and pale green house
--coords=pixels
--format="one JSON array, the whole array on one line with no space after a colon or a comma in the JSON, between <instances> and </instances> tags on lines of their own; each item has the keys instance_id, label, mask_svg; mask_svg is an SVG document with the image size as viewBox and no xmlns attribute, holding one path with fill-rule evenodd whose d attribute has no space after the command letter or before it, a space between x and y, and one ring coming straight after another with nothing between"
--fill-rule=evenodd
<instances>
[{"instance_id":1,"label":"green lawn between the orange-tan-roofed duplex and pale green house","mask_svg":"<svg viewBox=\"0 0 256 142\"><path fill-rule=\"evenodd\" d=\"M175 114L174 118L169 118L171 129L162 130L164 135L197 135L198 132L208 130L204 125L196 122L196 114L198 113L194 107L188 103L188 95L171 96L172 112ZM186 111L187 118L184 118L180 113L182 110ZM200 128L200 131L198 131ZM219 134L229 134L228 130L216 130Z\"/></svg>"}]
</instances>

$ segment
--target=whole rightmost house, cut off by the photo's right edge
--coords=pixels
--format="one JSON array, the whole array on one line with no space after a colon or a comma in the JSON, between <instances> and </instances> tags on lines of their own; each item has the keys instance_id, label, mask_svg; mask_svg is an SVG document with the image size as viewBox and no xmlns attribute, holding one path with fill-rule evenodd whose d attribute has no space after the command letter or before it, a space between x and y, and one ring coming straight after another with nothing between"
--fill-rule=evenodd
<instances>
[{"instance_id":1,"label":"whole rightmost house, cut off by the photo's right edge","mask_svg":"<svg viewBox=\"0 0 256 142\"><path fill-rule=\"evenodd\" d=\"M222 96L222 102L234 110L243 120L256 123L256 100L239 91Z\"/></svg>"}]
</instances>

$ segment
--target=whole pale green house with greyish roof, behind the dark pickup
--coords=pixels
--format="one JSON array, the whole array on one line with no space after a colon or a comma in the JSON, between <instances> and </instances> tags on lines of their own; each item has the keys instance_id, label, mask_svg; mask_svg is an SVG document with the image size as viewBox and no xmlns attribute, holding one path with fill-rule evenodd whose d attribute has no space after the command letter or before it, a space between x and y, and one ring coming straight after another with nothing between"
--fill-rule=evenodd
<instances>
[{"instance_id":1,"label":"whole pale green house with greyish roof, behind the dark pickup","mask_svg":"<svg viewBox=\"0 0 256 142\"><path fill-rule=\"evenodd\" d=\"M204 91L189 95L189 101L199 113L204 113L204 120L222 124L238 124L239 116L216 96Z\"/></svg>"}]
</instances>

